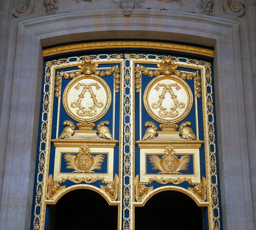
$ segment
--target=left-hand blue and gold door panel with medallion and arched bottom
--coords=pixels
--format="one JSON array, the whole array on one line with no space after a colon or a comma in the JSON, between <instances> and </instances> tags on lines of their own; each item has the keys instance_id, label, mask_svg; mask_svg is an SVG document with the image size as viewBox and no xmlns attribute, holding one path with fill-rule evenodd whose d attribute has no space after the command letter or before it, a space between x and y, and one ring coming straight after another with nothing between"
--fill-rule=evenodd
<instances>
[{"instance_id":1,"label":"left-hand blue and gold door panel with medallion and arched bottom","mask_svg":"<svg viewBox=\"0 0 256 230\"><path fill-rule=\"evenodd\" d=\"M78 188L100 193L121 212L122 72L118 55L45 63L35 229L44 229L47 204Z\"/></svg>"}]
</instances>

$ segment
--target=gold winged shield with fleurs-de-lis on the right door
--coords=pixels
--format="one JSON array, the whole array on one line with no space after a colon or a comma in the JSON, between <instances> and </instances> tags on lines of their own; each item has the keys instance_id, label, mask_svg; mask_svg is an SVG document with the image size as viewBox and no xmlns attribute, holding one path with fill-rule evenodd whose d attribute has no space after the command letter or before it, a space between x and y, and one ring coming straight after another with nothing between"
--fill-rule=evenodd
<instances>
[{"instance_id":1,"label":"gold winged shield with fleurs-de-lis on the right door","mask_svg":"<svg viewBox=\"0 0 256 230\"><path fill-rule=\"evenodd\" d=\"M188 170L190 156L181 156L180 159L178 159L178 157L174 155L175 150L171 145L167 146L164 152L166 154L162 156L161 159L156 155L149 156L149 162L152 164L153 170L159 170L159 173L163 174L180 174L179 171Z\"/></svg>"}]
</instances>

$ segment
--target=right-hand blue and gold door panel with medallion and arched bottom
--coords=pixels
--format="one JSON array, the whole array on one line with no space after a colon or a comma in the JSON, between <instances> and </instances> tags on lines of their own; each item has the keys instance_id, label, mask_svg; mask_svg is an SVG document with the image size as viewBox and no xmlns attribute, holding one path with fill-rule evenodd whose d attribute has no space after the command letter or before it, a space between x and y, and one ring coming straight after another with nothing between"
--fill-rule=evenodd
<instances>
[{"instance_id":1,"label":"right-hand blue and gold door panel with medallion and arched bottom","mask_svg":"<svg viewBox=\"0 0 256 230\"><path fill-rule=\"evenodd\" d=\"M207 92L210 62L157 55L131 62L136 89L133 206L163 190L182 191L207 207L208 227L218 229L210 183L215 168L215 152L209 151L209 139L215 145L208 120L213 118L211 86Z\"/></svg>"}]
</instances>

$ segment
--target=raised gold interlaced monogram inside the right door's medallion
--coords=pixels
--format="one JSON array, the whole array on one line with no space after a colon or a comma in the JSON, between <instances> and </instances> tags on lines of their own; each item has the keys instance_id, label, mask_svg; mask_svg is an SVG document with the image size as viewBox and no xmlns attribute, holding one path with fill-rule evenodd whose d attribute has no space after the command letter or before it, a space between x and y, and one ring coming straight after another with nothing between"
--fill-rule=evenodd
<instances>
[{"instance_id":1,"label":"raised gold interlaced monogram inside the right door's medallion","mask_svg":"<svg viewBox=\"0 0 256 230\"><path fill-rule=\"evenodd\" d=\"M160 87L163 87L163 91L161 93L161 95L159 96L159 100L157 103L153 103L151 106L152 108L156 109L156 108L160 108L160 111L158 111L159 116L161 117L175 117L179 114L179 111L177 111L177 108L185 108L185 104L183 102L178 102L177 100L177 95L174 94L174 92L172 91L172 87L175 87L175 89L178 91L180 89L180 86L175 83L175 84L157 84L157 86L154 88L155 90L159 90ZM175 105L170 108L170 111L166 111L167 108L164 108L162 106L162 102L163 99L165 98L165 94L169 92L169 94L171 94L171 98L173 99Z\"/></svg>"}]
</instances>

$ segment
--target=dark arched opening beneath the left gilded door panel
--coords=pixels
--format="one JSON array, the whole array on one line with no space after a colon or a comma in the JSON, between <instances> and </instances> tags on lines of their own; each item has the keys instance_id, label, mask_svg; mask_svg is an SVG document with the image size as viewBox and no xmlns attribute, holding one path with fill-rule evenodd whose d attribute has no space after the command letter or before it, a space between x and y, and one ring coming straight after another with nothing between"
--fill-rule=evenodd
<instances>
[{"instance_id":1,"label":"dark arched opening beneath the left gilded door panel","mask_svg":"<svg viewBox=\"0 0 256 230\"><path fill-rule=\"evenodd\" d=\"M52 230L117 230L118 206L89 189L70 191L50 208Z\"/></svg>"}]
</instances>

